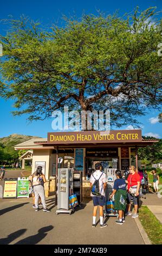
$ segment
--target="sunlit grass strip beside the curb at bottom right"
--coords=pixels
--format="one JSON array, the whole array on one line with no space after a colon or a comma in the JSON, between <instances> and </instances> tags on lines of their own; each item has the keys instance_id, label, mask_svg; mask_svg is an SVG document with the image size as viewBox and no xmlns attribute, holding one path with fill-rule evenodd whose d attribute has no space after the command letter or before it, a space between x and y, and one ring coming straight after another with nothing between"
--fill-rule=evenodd
<instances>
[{"instance_id":1,"label":"sunlit grass strip beside the curb at bottom right","mask_svg":"<svg viewBox=\"0 0 162 256\"><path fill-rule=\"evenodd\" d=\"M149 239L153 245L162 244L162 224L147 208L147 206L141 206L139 209L139 220L144 227Z\"/></svg>"}]
</instances>

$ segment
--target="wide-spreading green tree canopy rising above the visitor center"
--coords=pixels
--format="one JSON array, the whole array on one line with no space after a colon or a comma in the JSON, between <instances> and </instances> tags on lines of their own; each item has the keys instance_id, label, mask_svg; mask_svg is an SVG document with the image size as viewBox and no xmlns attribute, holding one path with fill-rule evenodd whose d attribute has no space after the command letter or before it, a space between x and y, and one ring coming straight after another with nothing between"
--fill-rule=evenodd
<instances>
[{"instance_id":1,"label":"wide-spreading green tree canopy rising above the visitor center","mask_svg":"<svg viewBox=\"0 0 162 256\"><path fill-rule=\"evenodd\" d=\"M111 111L111 125L161 103L162 22L149 8L131 15L83 15L48 31L22 17L1 36L1 94L15 115L44 119L56 109Z\"/></svg>"}]
</instances>

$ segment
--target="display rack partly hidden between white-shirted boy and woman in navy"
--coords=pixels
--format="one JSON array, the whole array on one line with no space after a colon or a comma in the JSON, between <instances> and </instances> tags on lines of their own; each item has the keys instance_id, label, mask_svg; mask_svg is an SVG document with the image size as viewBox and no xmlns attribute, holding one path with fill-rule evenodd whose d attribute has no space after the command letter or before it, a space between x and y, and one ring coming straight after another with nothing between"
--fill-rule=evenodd
<instances>
[{"instance_id":1,"label":"display rack partly hidden between white-shirted boy and woman in navy","mask_svg":"<svg viewBox=\"0 0 162 256\"><path fill-rule=\"evenodd\" d=\"M106 202L109 200L109 196L113 192L114 181L116 179L115 170L116 169L113 169L113 168L105 168L104 169L104 172L106 173L106 176L107 176L107 188L105 191ZM114 196L113 196L112 200L114 201ZM114 213L108 214L106 211L106 206L105 206L104 217L106 217L106 216L117 216L117 214L116 214L116 212L115 212L115 214Z\"/></svg>"}]
</instances>

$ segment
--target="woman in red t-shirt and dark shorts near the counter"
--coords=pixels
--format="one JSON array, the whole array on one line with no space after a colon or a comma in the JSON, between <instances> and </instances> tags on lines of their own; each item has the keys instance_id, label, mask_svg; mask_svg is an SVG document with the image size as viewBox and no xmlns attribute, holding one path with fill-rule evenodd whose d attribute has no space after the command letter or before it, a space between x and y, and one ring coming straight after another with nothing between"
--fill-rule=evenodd
<instances>
[{"instance_id":1,"label":"woman in red t-shirt and dark shorts near the counter","mask_svg":"<svg viewBox=\"0 0 162 256\"><path fill-rule=\"evenodd\" d=\"M138 203L139 203L139 188L140 188L140 175L135 171L134 166L129 167L129 176L126 180L127 183L127 205L128 205L128 212L126 215L132 215L131 212L131 199L133 199L134 203L134 214L132 218L138 217Z\"/></svg>"}]
</instances>

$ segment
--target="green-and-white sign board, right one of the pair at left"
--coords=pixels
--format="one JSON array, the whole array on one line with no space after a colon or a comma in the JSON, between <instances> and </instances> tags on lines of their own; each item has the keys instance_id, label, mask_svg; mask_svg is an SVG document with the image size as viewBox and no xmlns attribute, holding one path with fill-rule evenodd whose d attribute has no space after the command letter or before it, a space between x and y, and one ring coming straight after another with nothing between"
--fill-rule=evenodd
<instances>
[{"instance_id":1,"label":"green-and-white sign board, right one of the pair at left","mask_svg":"<svg viewBox=\"0 0 162 256\"><path fill-rule=\"evenodd\" d=\"M29 179L28 178L18 178L17 198L18 197L29 197Z\"/></svg>"}]
</instances>

